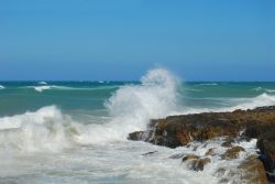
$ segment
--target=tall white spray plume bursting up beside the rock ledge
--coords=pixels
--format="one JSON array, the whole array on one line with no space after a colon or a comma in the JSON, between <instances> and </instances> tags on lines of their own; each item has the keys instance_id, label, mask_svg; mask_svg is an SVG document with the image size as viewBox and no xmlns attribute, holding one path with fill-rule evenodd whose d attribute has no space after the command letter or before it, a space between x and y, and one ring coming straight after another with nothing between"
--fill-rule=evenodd
<instances>
[{"instance_id":1,"label":"tall white spray plume bursting up beside the rock ledge","mask_svg":"<svg viewBox=\"0 0 275 184\"><path fill-rule=\"evenodd\" d=\"M170 72L156 68L141 78L140 85L120 87L106 102L111 120L90 125L82 130L81 143L125 140L132 131L144 130L150 119L162 118L178 108L179 79Z\"/></svg>"}]
</instances>

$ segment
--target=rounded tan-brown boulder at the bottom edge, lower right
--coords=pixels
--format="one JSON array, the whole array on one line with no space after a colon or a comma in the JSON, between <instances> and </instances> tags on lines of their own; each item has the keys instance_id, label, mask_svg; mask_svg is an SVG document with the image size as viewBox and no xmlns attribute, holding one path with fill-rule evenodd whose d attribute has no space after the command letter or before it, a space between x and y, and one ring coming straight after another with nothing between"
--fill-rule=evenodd
<instances>
[{"instance_id":1,"label":"rounded tan-brown boulder at the bottom edge, lower right","mask_svg":"<svg viewBox=\"0 0 275 184\"><path fill-rule=\"evenodd\" d=\"M256 158L249 158L239 165L242 170L242 183L248 184L268 184L263 163Z\"/></svg>"}]
</instances>

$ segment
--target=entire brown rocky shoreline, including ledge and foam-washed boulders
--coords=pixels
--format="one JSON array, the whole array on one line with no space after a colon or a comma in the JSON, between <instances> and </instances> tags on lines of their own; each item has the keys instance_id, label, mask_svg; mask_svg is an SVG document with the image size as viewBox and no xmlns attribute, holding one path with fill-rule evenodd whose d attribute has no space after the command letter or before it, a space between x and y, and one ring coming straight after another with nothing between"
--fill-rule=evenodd
<instances>
[{"instance_id":1,"label":"entire brown rocky shoreline, including ledge and foam-washed boulders","mask_svg":"<svg viewBox=\"0 0 275 184\"><path fill-rule=\"evenodd\" d=\"M234 142L256 139L260 152L239 164L238 169L242 171L241 180L243 183L254 184L275 181L272 174L275 170L275 106L233 112L169 116L152 120L147 130L129 134L130 140L151 142L172 149L217 138L224 138L221 147L227 149L219 155L224 160L238 159L239 154L245 151ZM204 158L194 154L182 155L183 162L189 162L190 169L201 171L206 164L212 162L209 155L216 154L215 149L209 149ZM220 183L227 181L221 180Z\"/></svg>"}]
</instances>

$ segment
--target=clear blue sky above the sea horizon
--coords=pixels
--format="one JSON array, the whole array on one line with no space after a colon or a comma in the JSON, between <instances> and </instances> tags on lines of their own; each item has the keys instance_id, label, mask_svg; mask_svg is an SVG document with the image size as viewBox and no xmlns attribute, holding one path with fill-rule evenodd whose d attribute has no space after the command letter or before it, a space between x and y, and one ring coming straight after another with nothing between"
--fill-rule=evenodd
<instances>
[{"instance_id":1,"label":"clear blue sky above the sea horizon","mask_svg":"<svg viewBox=\"0 0 275 184\"><path fill-rule=\"evenodd\" d=\"M274 0L1 0L0 80L275 80Z\"/></svg>"}]
</instances>

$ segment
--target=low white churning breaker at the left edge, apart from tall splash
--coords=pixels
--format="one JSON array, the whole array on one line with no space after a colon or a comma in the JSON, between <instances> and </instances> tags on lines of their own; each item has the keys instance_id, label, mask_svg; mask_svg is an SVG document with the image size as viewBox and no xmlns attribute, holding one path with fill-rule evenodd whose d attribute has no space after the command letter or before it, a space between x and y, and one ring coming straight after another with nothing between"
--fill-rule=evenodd
<instances>
[{"instance_id":1,"label":"low white churning breaker at the left edge, apart from tall splash","mask_svg":"<svg viewBox=\"0 0 275 184\"><path fill-rule=\"evenodd\" d=\"M0 148L22 151L58 151L68 145L64 115L55 107L44 107L0 118Z\"/></svg>"}]
</instances>

